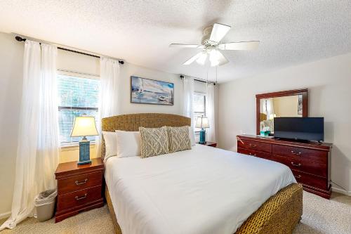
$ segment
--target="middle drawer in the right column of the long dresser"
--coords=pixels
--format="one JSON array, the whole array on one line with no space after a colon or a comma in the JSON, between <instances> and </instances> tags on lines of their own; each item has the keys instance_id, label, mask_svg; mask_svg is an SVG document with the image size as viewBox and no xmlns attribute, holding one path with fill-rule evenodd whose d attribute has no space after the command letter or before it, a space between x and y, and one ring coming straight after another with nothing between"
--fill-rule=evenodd
<instances>
[{"instance_id":1,"label":"middle drawer in the right column of the long dresser","mask_svg":"<svg viewBox=\"0 0 351 234\"><path fill-rule=\"evenodd\" d=\"M318 164L308 160L291 157L281 157L277 155L272 155L272 160L286 164L286 166L290 167L291 169L314 174L316 176L322 176L326 178L328 174L328 170L324 164Z\"/></svg>"}]
</instances>

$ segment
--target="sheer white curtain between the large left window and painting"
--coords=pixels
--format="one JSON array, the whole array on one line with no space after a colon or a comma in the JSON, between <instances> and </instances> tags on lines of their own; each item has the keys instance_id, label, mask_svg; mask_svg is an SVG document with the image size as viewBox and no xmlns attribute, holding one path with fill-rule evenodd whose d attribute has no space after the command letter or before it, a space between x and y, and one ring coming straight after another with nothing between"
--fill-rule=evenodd
<instances>
[{"instance_id":1,"label":"sheer white curtain between the large left window and painting","mask_svg":"<svg viewBox=\"0 0 351 234\"><path fill-rule=\"evenodd\" d=\"M96 155L101 156L101 119L119 115L119 61L111 58L100 58L100 98L98 132L96 138Z\"/></svg>"}]
</instances>

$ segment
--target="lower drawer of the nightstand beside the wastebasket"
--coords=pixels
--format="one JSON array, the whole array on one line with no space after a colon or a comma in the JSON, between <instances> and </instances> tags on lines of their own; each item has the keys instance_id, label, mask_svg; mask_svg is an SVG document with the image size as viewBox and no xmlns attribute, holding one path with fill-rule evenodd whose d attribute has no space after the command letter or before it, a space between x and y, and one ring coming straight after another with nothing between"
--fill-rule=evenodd
<instances>
[{"instance_id":1,"label":"lower drawer of the nightstand beside the wastebasket","mask_svg":"<svg viewBox=\"0 0 351 234\"><path fill-rule=\"evenodd\" d=\"M102 199L101 185L73 193L58 195L58 212Z\"/></svg>"}]
</instances>

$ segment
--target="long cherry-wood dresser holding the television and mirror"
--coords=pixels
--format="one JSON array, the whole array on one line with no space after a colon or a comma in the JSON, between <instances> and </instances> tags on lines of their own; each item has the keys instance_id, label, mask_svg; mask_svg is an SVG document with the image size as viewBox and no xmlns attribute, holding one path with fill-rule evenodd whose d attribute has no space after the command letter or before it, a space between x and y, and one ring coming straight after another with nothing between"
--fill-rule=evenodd
<instances>
[{"instance_id":1,"label":"long cherry-wood dresser holding the television and mirror","mask_svg":"<svg viewBox=\"0 0 351 234\"><path fill-rule=\"evenodd\" d=\"M237 151L290 167L298 183L316 195L330 199L330 143L307 143L260 136L237 136Z\"/></svg>"}]
</instances>

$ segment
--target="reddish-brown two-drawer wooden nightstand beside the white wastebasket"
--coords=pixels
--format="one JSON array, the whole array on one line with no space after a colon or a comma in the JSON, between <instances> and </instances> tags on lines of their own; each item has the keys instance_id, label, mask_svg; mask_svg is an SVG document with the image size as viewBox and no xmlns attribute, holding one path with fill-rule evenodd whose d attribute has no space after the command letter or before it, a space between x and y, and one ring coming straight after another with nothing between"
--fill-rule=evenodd
<instances>
[{"instance_id":1,"label":"reddish-brown two-drawer wooden nightstand beside the white wastebasket","mask_svg":"<svg viewBox=\"0 0 351 234\"><path fill-rule=\"evenodd\" d=\"M102 207L102 175L104 164L100 157L91 164L77 165L65 162L58 165L55 177L58 180L58 202L55 222L88 209Z\"/></svg>"}]
</instances>

